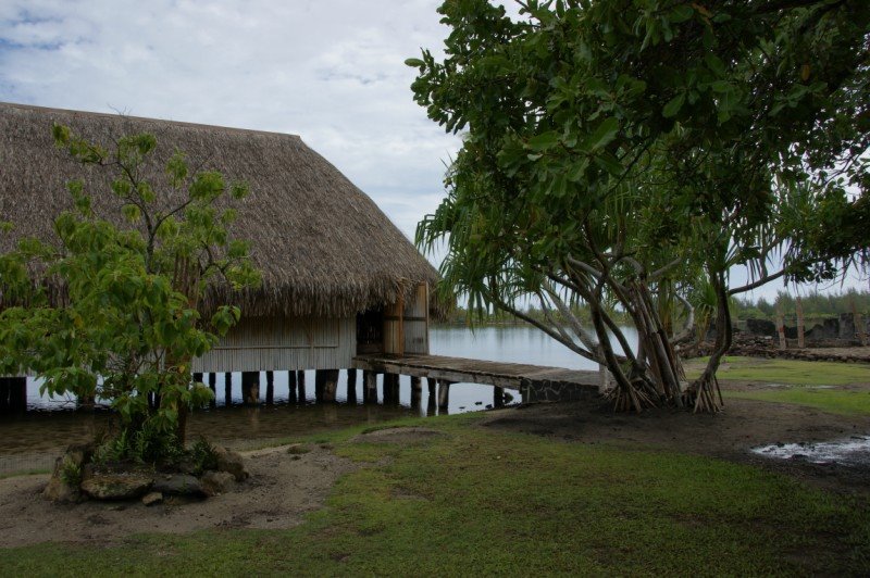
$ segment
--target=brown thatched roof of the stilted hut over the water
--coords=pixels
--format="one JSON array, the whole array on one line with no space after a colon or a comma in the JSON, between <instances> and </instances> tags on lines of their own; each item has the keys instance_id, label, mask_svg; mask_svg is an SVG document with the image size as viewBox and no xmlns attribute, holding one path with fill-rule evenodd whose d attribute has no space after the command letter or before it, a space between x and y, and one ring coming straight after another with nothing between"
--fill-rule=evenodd
<instances>
[{"instance_id":1,"label":"brown thatched roof of the stilted hut over the water","mask_svg":"<svg viewBox=\"0 0 870 578\"><path fill-rule=\"evenodd\" d=\"M119 214L109 172L57 149L52 123L104 146L123 135L156 135L156 183L176 149L191 166L247 181L251 193L238 202L233 234L251 242L263 284L244 296L226 288L212 296L247 315L349 315L436 279L377 205L298 136L0 103L0 222L14 224L14 237L50 240L52 217L71 206L65 183L74 178L85 179L101 214ZM0 236L0 251L10 241Z\"/></svg>"}]
</instances>

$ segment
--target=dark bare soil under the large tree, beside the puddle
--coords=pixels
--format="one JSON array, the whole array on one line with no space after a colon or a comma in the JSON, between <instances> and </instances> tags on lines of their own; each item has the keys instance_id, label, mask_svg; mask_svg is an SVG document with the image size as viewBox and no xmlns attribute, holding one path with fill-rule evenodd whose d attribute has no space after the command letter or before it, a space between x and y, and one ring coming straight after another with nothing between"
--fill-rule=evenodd
<instances>
[{"instance_id":1,"label":"dark bare soil under the large tree, beside the puddle","mask_svg":"<svg viewBox=\"0 0 870 578\"><path fill-rule=\"evenodd\" d=\"M651 410L614 414L584 403L539 404L492 412L483 427L568 442L607 443L637 450L670 450L748 463L826 489L870 499L870 467L773 460L750 452L771 443L829 441L870 434L870 417L831 415L811 407L754 400L726 400L717 415Z\"/></svg>"}]
</instances>

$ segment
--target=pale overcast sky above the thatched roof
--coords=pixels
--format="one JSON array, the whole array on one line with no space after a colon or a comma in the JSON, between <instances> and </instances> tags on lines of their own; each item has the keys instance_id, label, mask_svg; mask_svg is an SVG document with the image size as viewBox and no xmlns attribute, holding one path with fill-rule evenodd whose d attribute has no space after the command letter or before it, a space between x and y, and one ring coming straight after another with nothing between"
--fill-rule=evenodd
<instances>
[{"instance_id":1,"label":"pale overcast sky above the thatched roof","mask_svg":"<svg viewBox=\"0 0 870 578\"><path fill-rule=\"evenodd\" d=\"M440 48L439 4L0 0L0 101L296 134L412 238L459 143L403 64Z\"/></svg>"}]
</instances>

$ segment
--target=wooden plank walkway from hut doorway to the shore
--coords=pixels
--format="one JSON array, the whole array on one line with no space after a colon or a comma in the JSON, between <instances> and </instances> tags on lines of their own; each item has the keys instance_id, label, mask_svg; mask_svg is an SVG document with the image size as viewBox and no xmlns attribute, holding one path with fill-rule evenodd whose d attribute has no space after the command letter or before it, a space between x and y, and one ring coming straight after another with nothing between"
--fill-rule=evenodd
<instances>
[{"instance_id":1,"label":"wooden plank walkway from hut doorway to the shore","mask_svg":"<svg viewBox=\"0 0 870 578\"><path fill-rule=\"evenodd\" d=\"M443 379L455 384L484 384L515 390L521 390L524 385L559 385L597 393L599 382L598 372L443 355L358 355L353 357L353 366L370 372Z\"/></svg>"}]
</instances>

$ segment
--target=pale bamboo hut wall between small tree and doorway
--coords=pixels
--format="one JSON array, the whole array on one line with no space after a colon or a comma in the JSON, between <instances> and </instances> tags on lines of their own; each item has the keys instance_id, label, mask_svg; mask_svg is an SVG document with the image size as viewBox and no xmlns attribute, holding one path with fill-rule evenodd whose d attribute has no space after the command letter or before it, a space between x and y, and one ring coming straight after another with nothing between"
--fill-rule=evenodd
<instances>
[{"instance_id":1,"label":"pale bamboo hut wall between small tree and doorway","mask_svg":"<svg viewBox=\"0 0 870 578\"><path fill-rule=\"evenodd\" d=\"M351 366L356 350L353 317L243 317L192 370L337 369Z\"/></svg>"}]
</instances>

